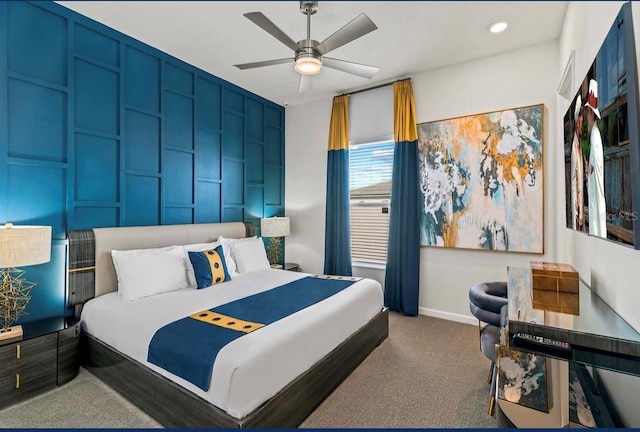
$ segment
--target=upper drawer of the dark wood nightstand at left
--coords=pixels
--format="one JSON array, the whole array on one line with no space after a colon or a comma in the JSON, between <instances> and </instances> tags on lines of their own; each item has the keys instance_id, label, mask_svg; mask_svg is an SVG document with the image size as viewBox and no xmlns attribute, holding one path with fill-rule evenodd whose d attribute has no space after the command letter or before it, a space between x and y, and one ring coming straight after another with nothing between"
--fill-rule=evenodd
<instances>
[{"instance_id":1,"label":"upper drawer of the dark wood nightstand at left","mask_svg":"<svg viewBox=\"0 0 640 432\"><path fill-rule=\"evenodd\" d=\"M58 335L17 341L0 347L0 376L12 375L41 364L56 364Z\"/></svg>"}]
</instances>

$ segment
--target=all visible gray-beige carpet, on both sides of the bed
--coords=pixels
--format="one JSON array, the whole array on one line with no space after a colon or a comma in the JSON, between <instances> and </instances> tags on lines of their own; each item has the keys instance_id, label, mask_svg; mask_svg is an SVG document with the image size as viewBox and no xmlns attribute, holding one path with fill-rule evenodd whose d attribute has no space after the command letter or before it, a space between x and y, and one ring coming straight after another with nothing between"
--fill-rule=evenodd
<instances>
[{"instance_id":1,"label":"all visible gray-beige carpet, on both sides of the bed","mask_svg":"<svg viewBox=\"0 0 640 432\"><path fill-rule=\"evenodd\" d=\"M488 368L477 327L392 313L389 338L301 427L497 427L487 415ZM0 427L160 425L81 368L69 384L0 411Z\"/></svg>"}]
</instances>

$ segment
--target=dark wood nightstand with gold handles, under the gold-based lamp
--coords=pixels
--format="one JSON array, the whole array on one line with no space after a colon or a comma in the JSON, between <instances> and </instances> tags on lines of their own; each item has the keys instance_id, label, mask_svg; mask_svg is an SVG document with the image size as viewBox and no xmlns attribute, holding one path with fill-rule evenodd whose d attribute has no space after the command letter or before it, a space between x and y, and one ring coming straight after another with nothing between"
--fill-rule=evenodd
<instances>
[{"instance_id":1,"label":"dark wood nightstand with gold handles, under the gold-based lamp","mask_svg":"<svg viewBox=\"0 0 640 432\"><path fill-rule=\"evenodd\" d=\"M46 318L22 324L23 337L0 342L0 408L52 390L78 375L80 321Z\"/></svg>"}]
</instances>

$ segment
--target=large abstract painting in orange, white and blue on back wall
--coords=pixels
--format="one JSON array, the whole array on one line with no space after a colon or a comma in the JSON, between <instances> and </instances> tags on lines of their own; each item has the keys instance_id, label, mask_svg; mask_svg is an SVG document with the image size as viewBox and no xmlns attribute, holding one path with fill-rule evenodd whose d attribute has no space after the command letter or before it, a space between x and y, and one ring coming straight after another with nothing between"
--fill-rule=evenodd
<instances>
[{"instance_id":1,"label":"large abstract painting in orange, white and blue on back wall","mask_svg":"<svg viewBox=\"0 0 640 432\"><path fill-rule=\"evenodd\" d=\"M544 105L418 124L420 244L544 253Z\"/></svg>"}]
</instances>

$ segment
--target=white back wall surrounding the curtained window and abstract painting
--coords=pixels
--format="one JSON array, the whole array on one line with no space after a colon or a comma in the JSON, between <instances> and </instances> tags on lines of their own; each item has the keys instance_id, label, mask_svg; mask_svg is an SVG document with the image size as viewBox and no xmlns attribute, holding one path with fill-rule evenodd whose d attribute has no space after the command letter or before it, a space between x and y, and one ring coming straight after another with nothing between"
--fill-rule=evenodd
<instances>
[{"instance_id":1,"label":"white back wall surrounding the curtained window and abstract painting","mask_svg":"<svg viewBox=\"0 0 640 432\"><path fill-rule=\"evenodd\" d=\"M442 68L412 77L418 122L487 111L544 104L545 255L474 252L422 248L420 313L475 323L469 313L469 287L478 281L505 280L507 265L528 266L531 260L555 258L555 189L553 166L558 76L555 42ZM326 152L331 100L286 110L286 213L292 218L287 261L303 271L321 272L324 259ZM295 224L295 225L294 225ZM299 231L298 231L299 230ZM382 271L355 269L381 280Z\"/></svg>"}]
</instances>

